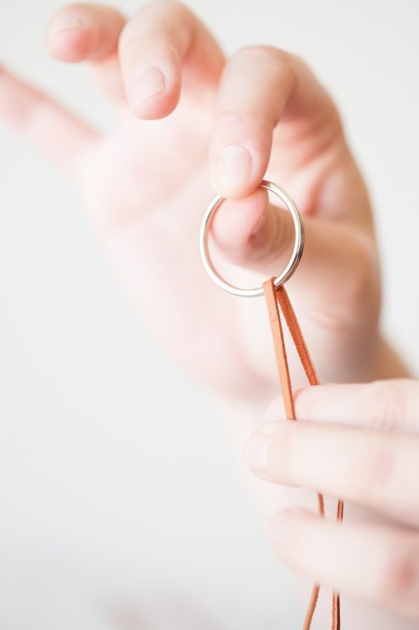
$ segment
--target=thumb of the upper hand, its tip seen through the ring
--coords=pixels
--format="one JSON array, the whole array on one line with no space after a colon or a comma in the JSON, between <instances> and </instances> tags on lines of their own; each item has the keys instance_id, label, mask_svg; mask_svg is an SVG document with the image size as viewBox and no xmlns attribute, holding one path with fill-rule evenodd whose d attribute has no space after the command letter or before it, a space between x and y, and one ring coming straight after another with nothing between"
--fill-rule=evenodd
<instances>
[{"instance_id":1,"label":"thumb of the upper hand, its tip seen through the ring","mask_svg":"<svg viewBox=\"0 0 419 630\"><path fill-rule=\"evenodd\" d=\"M377 284L372 237L353 224L307 215L304 232L304 253L291 279L293 290L304 291L304 301L313 305L333 302L348 309L353 300L359 304ZM267 191L259 188L247 198L225 200L215 213L210 235L217 261L258 272L263 280L279 275L291 256L293 219L284 207L270 204ZM234 270L228 272L226 279L234 284Z\"/></svg>"}]
</instances>

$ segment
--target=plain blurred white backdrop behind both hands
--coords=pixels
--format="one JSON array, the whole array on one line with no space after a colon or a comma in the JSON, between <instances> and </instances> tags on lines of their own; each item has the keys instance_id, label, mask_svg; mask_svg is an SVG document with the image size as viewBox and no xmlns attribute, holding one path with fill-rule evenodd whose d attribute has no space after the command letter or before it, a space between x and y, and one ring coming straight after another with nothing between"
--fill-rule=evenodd
<instances>
[{"instance_id":1,"label":"plain blurred white backdrop behind both hands","mask_svg":"<svg viewBox=\"0 0 419 630\"><path fill-rule=\"evenodd\" d=\"M60 6L1 0L0 63L106 128L82 66L45 53ZM418 2L189 6L226 52L296 52L335 97L374 203L383 328L417 373ZM1 629L299 627L223 430L149 341L70 184L1 121L0 161Z\"/></svg>"}]
</instances>

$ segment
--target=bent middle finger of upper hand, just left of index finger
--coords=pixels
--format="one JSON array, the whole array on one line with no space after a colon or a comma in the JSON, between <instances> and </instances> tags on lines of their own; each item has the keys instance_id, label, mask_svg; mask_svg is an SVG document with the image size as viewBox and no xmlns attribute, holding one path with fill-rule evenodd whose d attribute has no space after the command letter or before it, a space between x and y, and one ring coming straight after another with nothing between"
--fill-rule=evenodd
<instances>
[{"instance_id":1,"label":"bent middle finger of upper hand, just left of index finger","mask_svg":"<svg viewBox=\"0 0 419 630\"><path fill-rule=\"evenodd\" d=\"M196 96L214 85L223 54L209 31L181 3L153 2L130 20L119 42L122 78L133 113L162 118L179 101L181 75Z\"/></svg>"}]
</instances>

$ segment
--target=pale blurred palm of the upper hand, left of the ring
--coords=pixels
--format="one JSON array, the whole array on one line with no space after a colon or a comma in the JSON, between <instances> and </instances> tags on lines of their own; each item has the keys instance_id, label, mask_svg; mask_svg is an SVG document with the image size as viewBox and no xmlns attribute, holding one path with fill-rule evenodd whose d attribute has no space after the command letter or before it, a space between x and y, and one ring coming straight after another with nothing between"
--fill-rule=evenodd
<instances>
[{"instance_id":1,"label":"pale blurred palm of the upper hand, left of the ring","mask_svg":"<svg viewBox=\"0 0 419 630\"><path fill-rule=\"evenodd\" d=\"M182 102L152 124L127 113L81 156L78 183L119 279L156 338L200 380L231 391L248 384L239 347L245 340L233 335L246 305L212 284L198 254L200 219L214 194L210 125L211 103Z\"/></svg>"}]
</instances>

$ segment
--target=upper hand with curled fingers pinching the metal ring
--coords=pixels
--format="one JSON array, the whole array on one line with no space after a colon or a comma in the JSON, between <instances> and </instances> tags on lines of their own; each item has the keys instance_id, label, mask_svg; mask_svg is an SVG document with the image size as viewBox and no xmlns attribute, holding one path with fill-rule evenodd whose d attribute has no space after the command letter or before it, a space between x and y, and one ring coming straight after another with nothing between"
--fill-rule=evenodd
<instances>
[{"instance_id":1,"label":"upper hand with curled fingers pinching the metal ring","mask_svg":"<svg viewBox=\"0 0 419 630\"><path fill-rule=\"evenodd\" d=\"M229 199L212 230L226 277L249 282L251 270L255 286L278 274L293 228L258 189L267 171L305 215L306 248L288 288L318 372L367 377L381 346L371 210L335 104L307 65L264 46L226 61L203 24L171 1L128 22L111 8L68 6L52 18L47 48L87 63L115 104L114 131L96 133L6 71L0 115L73 177L166 351L218 393L249 400L277 387L263 299L214 286L197 244L215 190Z\"/></svg>"}]
</instances>

